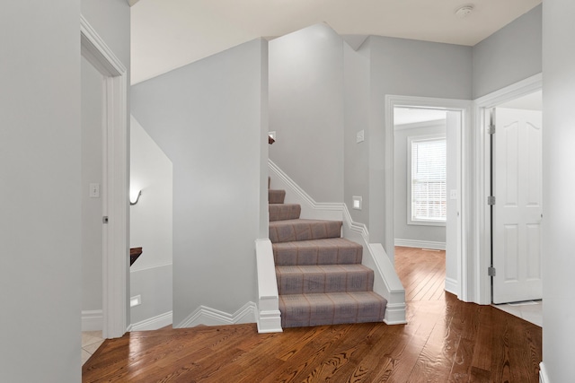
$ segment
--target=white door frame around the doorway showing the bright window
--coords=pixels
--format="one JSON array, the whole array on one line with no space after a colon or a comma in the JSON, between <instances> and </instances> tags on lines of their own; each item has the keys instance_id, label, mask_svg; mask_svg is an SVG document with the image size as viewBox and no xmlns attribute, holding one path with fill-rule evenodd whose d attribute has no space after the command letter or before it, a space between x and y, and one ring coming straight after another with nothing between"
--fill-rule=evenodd
<instances>
[{"instance_id":1,"label":"white door frame around the doorway showing the bright window","mask_svg":"<svg viewBox=\"0 0 575 383\"><path fill-rule=\"evenodd\" d=\"M459 227L457 233L460 243L458 244L457 254L457 281L452 283L451 287L455 289L457 298L468 301L470 292L468 281L470 280L470 269L468 267L469 259L467 251L468 239L465 237L467 228L471 227L468 222L470 215L469 203L472 201L470 193L473 190L470 187L471 177L466 177L471 169L469 161L469 148L471 147L471 122L472 122L472 102L470 100L456 99L437 99L429 97L412 97L412 96L385 96L385 251L392 261L394 260L394 108L411 107L411 108L430 108L456 110L462 113L461 137L457 143L457 152L461 157L461 170L459 172L461 217L457 221Z\"/></svg>"}]
</instances>

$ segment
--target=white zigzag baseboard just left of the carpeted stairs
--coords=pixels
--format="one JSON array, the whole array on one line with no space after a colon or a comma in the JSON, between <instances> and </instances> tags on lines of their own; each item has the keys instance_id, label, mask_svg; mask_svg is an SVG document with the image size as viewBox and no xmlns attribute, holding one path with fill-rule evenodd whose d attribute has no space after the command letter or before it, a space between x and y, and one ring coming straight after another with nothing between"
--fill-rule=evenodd
<instances>
[{"instance_id":1,"label":"white zigzag baseboard just left of the carpeted stairs","mask_svg":"<svg viewBox=\"0 0 575 383\"><path fill-rule=\"evenodd\" d=\"M253 302L247 302L242 308L235 311L234 314L228 314L224 311L208 308L206 306L199 306L199 308L194 310L188 318L181 321L177 327L194 327L199 325L223 326L237 325L240 323L256 323L257 311L258 308Z\"/></svg>"}]
</instances>

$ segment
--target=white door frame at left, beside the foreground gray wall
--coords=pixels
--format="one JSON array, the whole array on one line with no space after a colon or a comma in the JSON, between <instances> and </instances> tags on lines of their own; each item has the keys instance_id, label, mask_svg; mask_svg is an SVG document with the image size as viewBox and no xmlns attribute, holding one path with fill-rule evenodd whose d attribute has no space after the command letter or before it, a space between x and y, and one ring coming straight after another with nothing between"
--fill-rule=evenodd
<instances>
[{"instance_id":1,"label":"white door frame at left, beside the foreground gray wall","mask_svg":"<svg viewBox=\"0 0 575 383\"><path fill-rule=\"evenodd\" d=\"M81 52L102 74L102 337L124 335L128 324L128 71L80 16Z\"/></svg>"}]
</instances>

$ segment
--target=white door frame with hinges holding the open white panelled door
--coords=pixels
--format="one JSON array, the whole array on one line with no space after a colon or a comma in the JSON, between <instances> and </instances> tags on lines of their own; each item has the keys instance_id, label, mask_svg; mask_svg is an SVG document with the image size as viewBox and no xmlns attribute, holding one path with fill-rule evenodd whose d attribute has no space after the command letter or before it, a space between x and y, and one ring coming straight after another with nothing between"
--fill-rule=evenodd
<instances>
[{"instance_id":1,"label":"white door frame with hinges holding the open white panelled door","mask_svg":"<svg viewBox=\"0 0 575 383\"><path fill-rule=\"evenodd\" d=\"M503 102L515 100L543 88L543 75L535 74L523 81L511 84L499 91L493 91L479 99L473 100L473 111L475 116L475 182L477 198L476 220L477 234L477 257L475 259L476 281L475 299L479 304L491 304L491 276L487 274L487 269L491 265L491 209L487 205L487 197L490 195L490 151L491 144L487 128L489 127L489 112Z\"/></svg>"}]
</instances>

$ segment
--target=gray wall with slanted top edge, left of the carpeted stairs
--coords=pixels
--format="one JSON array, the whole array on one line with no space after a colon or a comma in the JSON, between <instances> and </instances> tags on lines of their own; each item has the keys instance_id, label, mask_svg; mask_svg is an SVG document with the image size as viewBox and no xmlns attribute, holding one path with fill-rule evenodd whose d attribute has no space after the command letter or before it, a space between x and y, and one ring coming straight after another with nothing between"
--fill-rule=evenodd
<instances>
[{"instance_id":1,"label":"gray wall with slanted top edge, left of the carpeted stairs","mask_svg":"<svg viewBox=\"0 0 575 383\"><path fill-rule=\"evenodd\" d=\"M234 313L257 299L266 59L257 39L132 87L132 114L173 162L176 326L200 305Z\"/></svg>"}]
</instances>

